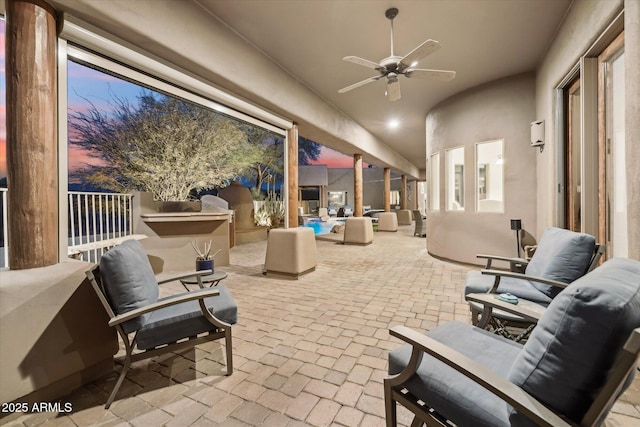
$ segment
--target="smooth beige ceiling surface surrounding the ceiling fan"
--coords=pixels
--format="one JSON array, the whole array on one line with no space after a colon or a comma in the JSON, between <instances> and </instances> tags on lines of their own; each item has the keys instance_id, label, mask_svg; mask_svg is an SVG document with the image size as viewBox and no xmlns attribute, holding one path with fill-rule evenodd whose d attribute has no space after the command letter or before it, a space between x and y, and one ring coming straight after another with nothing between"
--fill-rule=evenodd
<instances>
[{"instance_id":1,"label":"smooth beige ceiling surface surrounding the ceiling fan","mask_svg":"<svg viewBox=\"0 0 640 427\"><path fill-rule=\"evenodd\" d=\"M570 0L198 2L420 169L426 163L429 110L466 89L534 71L571 4ZM389 21L384 15L389 7L399 9L394 21L395 54L405 55L429 38L438 40L442 48L419 66L455 70L456 78L444 83L401 77L402 98L395 102L386 100L382 80L338 94L338 89L376 74L344 62L344 56L375 62L389 56ZM400 121L398 129L389 129L391 119Z\"/></svg>"}]
</instances>

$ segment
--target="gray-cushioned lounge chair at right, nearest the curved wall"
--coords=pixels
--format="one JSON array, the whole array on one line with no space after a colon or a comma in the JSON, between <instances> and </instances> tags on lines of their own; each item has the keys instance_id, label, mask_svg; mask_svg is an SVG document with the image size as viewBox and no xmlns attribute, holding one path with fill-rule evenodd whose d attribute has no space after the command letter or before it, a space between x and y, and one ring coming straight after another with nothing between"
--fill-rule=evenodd
<instances>
[{"instance_id":1,"label":"gray-cushioned lounge chair at right, nearest the curved wall","mask_svg":"<svg viewBox=\"0 0 640 427\"><path fill-rule=\"evenodd\" d=\"M596 244L595 238L589 234L548 227L530 261L478 255L478 258L487 260L486 269L467 273L464 288L471 322L516 341L526 338L535 326L531 319L496 309L485 313L481 324L484 304L470 300L469 295L510 293L519 299L521 305L530 302L528 307L537 310L539 315L564 287L593 270L604 250L605 246ZM523 269L524 273L491 270L492 261L496 260L508 262L512 270ZM512 326L519 328L517 334L510 331Z\"/></svg>"}]
</instances>

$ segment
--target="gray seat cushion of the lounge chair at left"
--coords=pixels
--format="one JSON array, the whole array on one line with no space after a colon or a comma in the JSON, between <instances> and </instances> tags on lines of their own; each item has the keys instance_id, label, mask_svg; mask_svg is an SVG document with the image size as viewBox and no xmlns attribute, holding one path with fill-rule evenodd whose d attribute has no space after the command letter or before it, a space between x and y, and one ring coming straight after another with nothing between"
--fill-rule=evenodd
<instances>
[{"instance_id":1,"label":"gray seat cushion of the lounge chair at left","mask_svg":"<svg viewBox=\"0 0 640 427\"><path fill-rule=\"evenodd\" d=\"M231 293L226 286L217 286L216 289L220 291L220 295L206 298L207 307L218 319L235 324L238 321L238 306ZM195 290L190 293L201 291ZM160 301L176 296L161 298ZM147 350L215 329L216 327L202 315L198 301L189 301L151 313L148 321L138 331L138 348Z\"/></svg>"}]
</instances>

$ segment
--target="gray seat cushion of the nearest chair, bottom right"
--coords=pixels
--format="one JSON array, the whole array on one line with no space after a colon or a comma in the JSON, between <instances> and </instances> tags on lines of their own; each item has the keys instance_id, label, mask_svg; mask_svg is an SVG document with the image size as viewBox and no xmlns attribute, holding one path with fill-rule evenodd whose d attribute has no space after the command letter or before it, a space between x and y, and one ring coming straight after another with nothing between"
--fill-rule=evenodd
<instances>
[{"instance_id":1,"label":"gray seat cushion of the nearest chair, bottom right","mask_svg":"<svg viewBox=\"0 0 640 427\"><path fill-rule=\"evenodd\" d=\"M426 333L502 377L509 373L522 345L457 321ZM389 374L407 366L411 346L389 353ZM404 386L416 396L428 396L427 404L459 426L510 426L511 406L482 386L435 358L425 355L417 375Z\"/></svg>"}]
</instances>

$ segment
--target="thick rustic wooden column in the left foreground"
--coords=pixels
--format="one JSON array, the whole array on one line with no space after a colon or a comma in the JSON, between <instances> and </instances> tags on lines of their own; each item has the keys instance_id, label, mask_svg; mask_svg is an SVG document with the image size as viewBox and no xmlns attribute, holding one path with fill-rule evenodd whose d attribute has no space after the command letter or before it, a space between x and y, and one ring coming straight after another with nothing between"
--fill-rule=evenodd
<instances>
[{"instance_id":1,"label":"thick rustic wooden column in the left foreground","mask_svg":"<svg viewBox=\"0 0 640 427\"><path fill-rule=\"evenodd\" d=\"M9 268L21 270L58 262L56 13L6 6Z\"/></svg>"}]
</instances>

